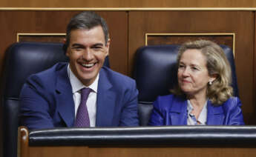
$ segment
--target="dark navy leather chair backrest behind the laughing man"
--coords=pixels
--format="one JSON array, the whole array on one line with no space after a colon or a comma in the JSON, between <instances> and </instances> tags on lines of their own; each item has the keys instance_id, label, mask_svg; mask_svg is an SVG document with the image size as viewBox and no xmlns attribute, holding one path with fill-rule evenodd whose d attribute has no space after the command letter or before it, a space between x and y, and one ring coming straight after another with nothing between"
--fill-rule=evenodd
<instances>
[{"instance_id":1,"label":"dark navy leather chair backrest behind the laughing man","mask_svg":"<svg viewBox=\"0 0 256 157\"><path fill-rule=\"evenodd\" d=\"M2 113L4 156L16 157L19 127L19 93L33 73L39 73L60 61L68 61L61 43L20 42L6 51L3 72ZM109 67L108 57L105 66Z\"/></svg>"}]
</instances>

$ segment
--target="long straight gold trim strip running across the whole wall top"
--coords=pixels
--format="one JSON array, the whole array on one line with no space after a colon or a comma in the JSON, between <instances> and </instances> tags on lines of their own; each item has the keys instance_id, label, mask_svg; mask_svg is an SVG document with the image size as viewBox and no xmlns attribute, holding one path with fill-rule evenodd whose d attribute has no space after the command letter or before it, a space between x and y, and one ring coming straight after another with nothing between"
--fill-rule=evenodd
<instances>
[{"instance_id":1,"label":"long straight gold trim strip running across the whole wall top","mask_svg":"<svg viewBox=\"0 0 256 157\"><path fill-rule=\"evenodd\" d=\"M256 11L256 7L0 7L0 10L101 10L101 11Z\"/></svg>"}]
</instances>

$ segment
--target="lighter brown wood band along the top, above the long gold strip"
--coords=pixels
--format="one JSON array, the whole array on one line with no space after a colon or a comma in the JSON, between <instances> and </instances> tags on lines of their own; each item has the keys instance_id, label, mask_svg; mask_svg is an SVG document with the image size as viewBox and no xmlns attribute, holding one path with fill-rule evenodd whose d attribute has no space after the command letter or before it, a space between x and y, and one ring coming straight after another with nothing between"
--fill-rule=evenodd
<instances>
[{"instance_id":1,"label":"lighter brown wood band along the top, above the long gold strip","mask_svg":"<svg viewBox=\"0 0 256 157\"><path fill-rule=\"evenodd\" d=\"M0 7L256 7L255 0L1 0Z\"/></svg>"}]
</instances>

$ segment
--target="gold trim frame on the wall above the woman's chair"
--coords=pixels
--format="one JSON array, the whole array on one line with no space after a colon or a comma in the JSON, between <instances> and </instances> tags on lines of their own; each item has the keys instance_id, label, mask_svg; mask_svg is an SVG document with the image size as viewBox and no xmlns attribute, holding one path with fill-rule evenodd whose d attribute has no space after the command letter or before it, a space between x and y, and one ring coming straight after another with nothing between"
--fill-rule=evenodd
<instances>
[{"instance_id":1,"label":"gold trim frame on the wall above the woman's chair","mask_svg":"<svg viewBox=\"0 0 256 157\"><path fill-rule=\"evenodd\" d=\"M235 50L235 33L145 33L145 45L148 45L148 36L233 36L233 55Z\"/></svg>"}]
</instances>

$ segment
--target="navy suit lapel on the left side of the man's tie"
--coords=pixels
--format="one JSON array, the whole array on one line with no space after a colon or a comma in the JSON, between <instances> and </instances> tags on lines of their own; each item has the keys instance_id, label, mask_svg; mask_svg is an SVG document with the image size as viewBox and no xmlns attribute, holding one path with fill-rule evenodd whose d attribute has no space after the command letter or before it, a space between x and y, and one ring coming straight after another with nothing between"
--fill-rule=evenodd
<instances>
[{"instance_id":1,"label":"navy suit lapel on the left side of the man's tie","mask_svg":"<svg viewBox=\"0 0 256 157\"><path fill-rule=\"evenodd\" d=\"M56 80L56 108L68 127L73 127L75 119L75 109L73 102L73 93L70 80L68 78L68 64L57 71Z\"/></svg>"}]
</instances>

